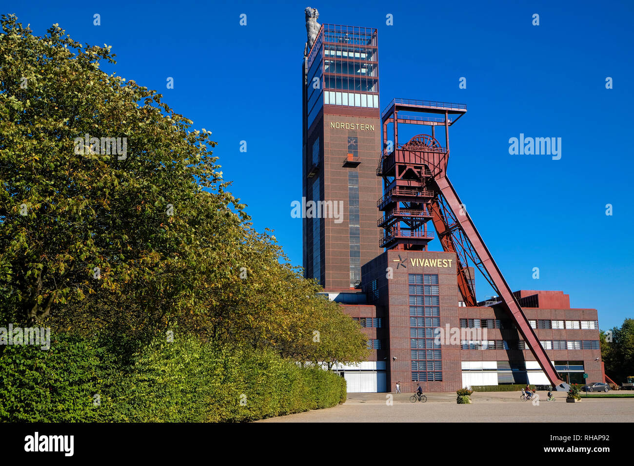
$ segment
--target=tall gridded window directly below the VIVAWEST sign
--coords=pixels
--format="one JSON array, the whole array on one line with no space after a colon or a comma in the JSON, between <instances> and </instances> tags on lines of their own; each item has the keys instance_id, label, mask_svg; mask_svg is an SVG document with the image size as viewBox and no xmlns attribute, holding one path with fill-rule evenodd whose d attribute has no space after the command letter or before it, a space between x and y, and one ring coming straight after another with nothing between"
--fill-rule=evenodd
<instances>
[{"instance_id":1,"label":"tall gridded window directly below the VIVAWEST sign","mask_svg":"<svg viewBox=\"0 0 634 466\"><path fill-rule=\"evenodd\" d=\"M440 327L438 275L410 273L411 380L441 382L443 361L434 329Z\"/></svg>"}]
</instances>

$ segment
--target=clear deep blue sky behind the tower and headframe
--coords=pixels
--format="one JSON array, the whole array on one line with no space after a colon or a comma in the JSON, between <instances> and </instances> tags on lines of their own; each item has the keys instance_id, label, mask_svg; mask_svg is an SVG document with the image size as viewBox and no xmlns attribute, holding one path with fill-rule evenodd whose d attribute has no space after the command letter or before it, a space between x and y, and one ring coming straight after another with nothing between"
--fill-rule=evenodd
<instances>
[{"instance_id":1,"label":"clear deep blue sky behind the tower and headframe","mask_svg":"<svg viewBox=\"0 0 634 466\"><path fill-rule=\"evenodd\" d=\"M301 265L290 203L302 186L306 6L320 23L378 28L381 108L394 97L467 104L450 131L448 174L514 290L564 290L573 307L598 309L604 329L634 317L630 1L29 1L1 10L39 36L59 23L77 41L111 45L118 63L104 69L158 89L212 131L256 228L273 228ZM562 158L509 155L508 139L520 133L562 138ZM484 280L476 287L479 299L490 293Z\"/></svg>"}]
</instances>

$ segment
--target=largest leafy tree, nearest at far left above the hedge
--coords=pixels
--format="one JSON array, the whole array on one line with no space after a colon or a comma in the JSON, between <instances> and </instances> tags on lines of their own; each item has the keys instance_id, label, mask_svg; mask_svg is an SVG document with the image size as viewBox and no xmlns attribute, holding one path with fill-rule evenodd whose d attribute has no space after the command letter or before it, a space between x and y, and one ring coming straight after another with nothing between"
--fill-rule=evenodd
<instances>
[{"instance_id":1,"label":"largest leafy tree, nearest at far left above the hedge","mask_svg":"<svg viewBox=\"0 0 634 466\"><path fill-rule=\"evenodd\" d=\"M86 309L93 294L103 318L190 307L195 283L174 277L196 268L192 219L205 209L228 233L245 218L223 190L210 133L188 131L191 120L155 91L101 71L115 63L110 47L83 47L58 25L36 37L13 15L1 23L3 313L42 320L55 307ZM86 134L98 138L89 147L78 142ZM119 153L106 138L121 138Z\"/></svg>"}]
</instances>

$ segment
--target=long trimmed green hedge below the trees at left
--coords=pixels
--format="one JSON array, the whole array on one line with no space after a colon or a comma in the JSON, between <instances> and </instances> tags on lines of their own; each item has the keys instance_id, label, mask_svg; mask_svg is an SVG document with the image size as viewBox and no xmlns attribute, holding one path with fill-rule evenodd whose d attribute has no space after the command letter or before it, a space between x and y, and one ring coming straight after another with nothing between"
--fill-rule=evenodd
<instances>
[{"instance_id":1,"label":"long trimmed green hedge below the trees at left","mask_svg":"<svg viewBox=\"0 0 634 466\"><path fill-rule=\"evenodd\" d=\"M8 346L0 421L243 422L346 401L342 377L273 353L184 337L130 356L124 364L112 346L72 337L49 351Z\"/></svg>"}]
</instances>

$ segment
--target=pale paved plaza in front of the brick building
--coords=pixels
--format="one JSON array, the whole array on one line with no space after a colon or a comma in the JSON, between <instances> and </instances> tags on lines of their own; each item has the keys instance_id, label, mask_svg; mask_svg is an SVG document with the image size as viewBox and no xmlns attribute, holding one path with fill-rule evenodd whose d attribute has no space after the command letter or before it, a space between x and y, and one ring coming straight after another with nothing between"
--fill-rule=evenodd
<instances>
[{"instance_id":1,"label":"pale paved plaza in front of the brick building","mask_svg":"<svg viewBox=\"0 0 634 466\"><path fill-rule=\"evenodd\" d=\"M520 392L479 392L471 405L457 405L456 394L427 393L427 403L410 403L410 393L349 393L346 403L326 410L265 419L259 422L632 422L634 398L592 398L566 403L566 392L555 392L556 401L520 401Z\"/></svg>"}]
</instances>

